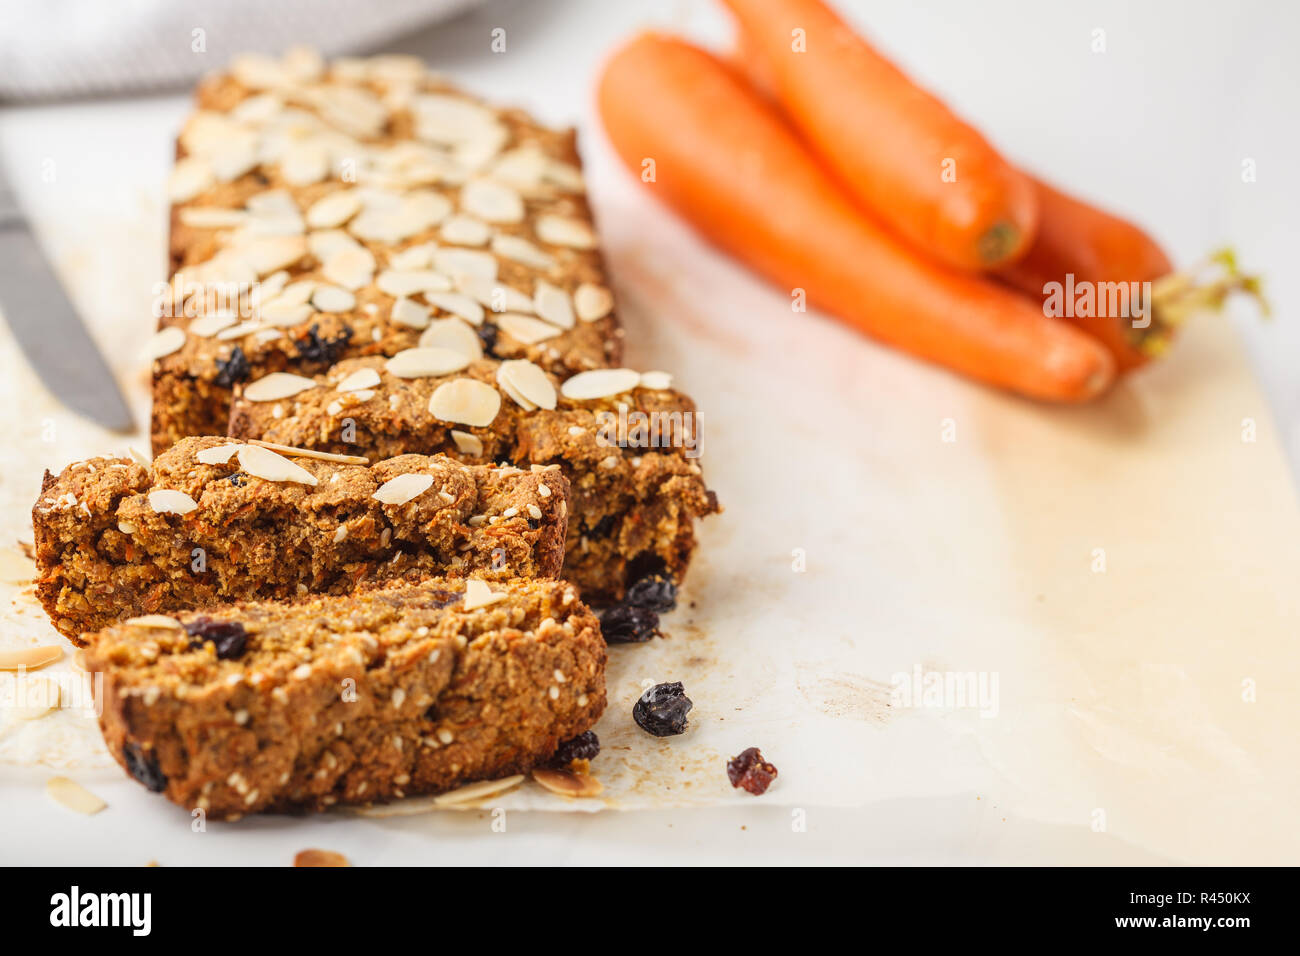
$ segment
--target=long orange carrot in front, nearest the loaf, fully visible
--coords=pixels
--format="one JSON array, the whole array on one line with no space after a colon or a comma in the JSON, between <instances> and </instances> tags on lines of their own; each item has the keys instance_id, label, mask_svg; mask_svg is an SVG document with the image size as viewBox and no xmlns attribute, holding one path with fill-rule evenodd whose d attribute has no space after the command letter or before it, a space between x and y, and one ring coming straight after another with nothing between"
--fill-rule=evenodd
<instances>
[{"instance_id":1,"label":"long orange carrot in front, nearest the loaf, fully visible","mask_svg":"<svg viewBox=\"0 0 1300 956\"><path fill-rule=\"evenodd\" d=\"M1114 376L1105 349L1026 298L920 258L863 216L732 69L644 34L597 91L623 161L707 238L850 325L972 378L1079 402Z\"/></svg>"}]
</instances>

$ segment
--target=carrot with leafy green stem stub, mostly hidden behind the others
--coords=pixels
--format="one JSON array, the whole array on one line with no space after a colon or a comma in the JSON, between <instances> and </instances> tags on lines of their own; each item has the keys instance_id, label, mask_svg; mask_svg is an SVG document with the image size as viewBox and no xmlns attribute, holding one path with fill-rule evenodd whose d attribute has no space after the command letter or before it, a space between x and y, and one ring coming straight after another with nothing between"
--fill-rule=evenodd
<instances>
[{"instance_id":1,"label":"carrot with leafy green stem stub, mostly hidden behind the others","mask_svg":"<svg viewBox=\"0 0 1300 956\"><path fill-rule=\"evenodd\" d=\"M1219 268L1206 280L1174 272L1165 251L1139 226L1043 181L1035 185L1037 235L1024 258L998 269L998 277L1040 300L1060 294L1058 304L1070 306L1065 317L1100 339L1121 372L1161 355L1192 312L1218 308L1238 290L1261 298L1258 280L1242 274L1230 252L1210 259ZM1145 282L1150 286L1144 290ZM1078 293L1070 295L1071 289ZM1089 293L1092 303L1076 307L1075 299Z\"/></svg>"}]
</instances>

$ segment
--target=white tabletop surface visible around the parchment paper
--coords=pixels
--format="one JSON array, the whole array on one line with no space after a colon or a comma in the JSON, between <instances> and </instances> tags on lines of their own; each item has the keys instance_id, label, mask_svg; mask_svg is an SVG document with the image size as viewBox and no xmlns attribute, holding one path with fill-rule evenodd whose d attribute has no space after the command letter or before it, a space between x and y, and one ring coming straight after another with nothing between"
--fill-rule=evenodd
<instances>
[{"instance_id":1,"label":"white tabletop surface visible around the parchment paper","mask_svg":"<svg viewBox=\"0 0 1300 956\"><path fill-rule=\"evenodd\" d=\"M840 4L914 77L975 121L1009 156L1062 186L1144 224L1184 264L1225 242L1270 280L1275 316L1249 308L1239 326L1273 405L1292 466L1300 462L1300 329L1294 217L1300 209L1295 157L1300 68L1295 8L1209 3L871 3ZM592 86L602 56L641 26L660 26L722 44L725 16L707 3L493 3L398 44L486 96L517 103L555 124L575 124L593 183L612 159L593 117ZM507 52L489 52L490 31L507 30ZM1106 52L1093 53L1093 30ZM187 43L188 38L177 38ZM217 66L218 64L212 64ZM147 334L138 306L162 263L160 183L187 98L155 96L29 107L0 112L0 160L78 303L98 328L134 328L103 345L136 410L136 368ZM1242 181L1242 163L1258 181ZM53 161L53 182L42 179ZM602 194L593 195L598 215ZM649 202L649 200L647 200ZM122 267L109 246L152 250ZM620 255L610 250L619 280ZM754 289L760 286L757 284ZM86 290L96 290L87 300ZM107 291L104 291L107 290ZM760 293L755 293L760 294ZM774 294L779 295L779 294ZM1202 321L1225 321L1202 319ZM638 345L638 338L641 345ZM633 328L633 359L653 356L649 330ZM134 341L131 341L134 339ZM863 349L872 346L863 345ZM640 354L638 354L640 350ZM1176 360L1176 352L1174 359ZM634 362L633 364L646 364ZM43 775L6 777L6 790ZM110 804L135 784L109 774L96 784ZM120 839L82 840L100 821L35 809L10 818L0 860L8 862L186 861L286 862L306 845L358 861L725 861L989 862L1154 861L1083 827L1006 818L994 800L963 795L862 810L815 810L809 832L790 832L790 810L515 814L512 839L493 839L480 814L386 821L365 845L344 845L333 821L251 822L192 840L187 821L125 819ZM332 830L332 827L334 827ZM214 836L214 838L213 838Z\"/></svg>"}]
</instances>

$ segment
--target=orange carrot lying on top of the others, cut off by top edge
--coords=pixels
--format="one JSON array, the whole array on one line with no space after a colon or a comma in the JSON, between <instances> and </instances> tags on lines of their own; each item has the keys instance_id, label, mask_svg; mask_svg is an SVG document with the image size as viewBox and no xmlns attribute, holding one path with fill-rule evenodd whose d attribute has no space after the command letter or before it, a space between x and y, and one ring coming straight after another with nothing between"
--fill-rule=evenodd
<instances>
[{"instance_id":1,"label":"orange carrot lying on top of the others, cut off by top edge","mask_svg":"<svg viewBox=\"0 0 1300 956\"><path fill-rule=\"evenodd\" d=\"M1037 222L1034 183L820 0L724 0L746 72L849 191L939 261L1014 261Z\"/></svg>"}]
</instances>

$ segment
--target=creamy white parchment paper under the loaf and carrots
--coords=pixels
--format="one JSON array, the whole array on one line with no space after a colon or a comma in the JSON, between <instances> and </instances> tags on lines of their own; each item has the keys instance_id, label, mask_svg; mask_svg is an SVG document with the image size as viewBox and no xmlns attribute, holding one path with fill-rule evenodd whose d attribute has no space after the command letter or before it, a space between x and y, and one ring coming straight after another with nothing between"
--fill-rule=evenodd
<instances>
[{"instance_id":1,"label":"creamy white parchment paper under the loaf and carrots","mask_svg":"<svg viewBox=\"0 0 1300 956\"><path fill-rule=\"evenodd\" d=\"M1199 323L1092 407L1031 405L792 311L597 155L629 363L675 372L698 401L727 511L705 523L668 637L611 649L604 795L529 783L494 805L751 800L724 763L757 745L780 769L764 801L968 792L1174 860L1294 861L1300 515L1227 328ZM147 190L105 203L55 248L143 423L134 352L162 217ZM0 382L10 548L31 538L43 468L127 441L62 411L3 328ZM22 585L4 588L4 646L61 640ZM900 674L970 676L987 696L898 706ZM659 680L696 702L684 736L632 723ZM34 760L107 754L72 713L6 719L0 761Z\"/></svg>"}]
</instances>

